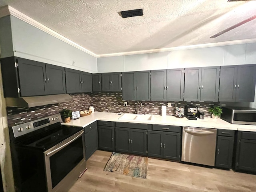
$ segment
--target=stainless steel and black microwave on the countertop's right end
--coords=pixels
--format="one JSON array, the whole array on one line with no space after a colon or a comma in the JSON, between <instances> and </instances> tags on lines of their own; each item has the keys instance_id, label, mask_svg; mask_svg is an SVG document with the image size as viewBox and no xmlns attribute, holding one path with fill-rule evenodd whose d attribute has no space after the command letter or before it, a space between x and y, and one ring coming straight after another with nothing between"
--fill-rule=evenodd
<instances>
[{"instance_id":1,"label":"stainless steel and black microwave on the countertop's right end","mask_svg":"<svg viewBox=\"0 0 256 192\"><path fill-rule=\"evenodd\" d=\"M256 109L250 107L222 107L220 118L232 124L256 125Z\"/></svg>"}]
</instances>

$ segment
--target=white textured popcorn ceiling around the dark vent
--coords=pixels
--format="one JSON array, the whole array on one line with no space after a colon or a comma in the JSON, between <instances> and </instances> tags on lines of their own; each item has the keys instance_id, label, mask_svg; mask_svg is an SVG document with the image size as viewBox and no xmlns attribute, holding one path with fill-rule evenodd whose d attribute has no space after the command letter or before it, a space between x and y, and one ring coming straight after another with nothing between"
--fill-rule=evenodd
<instances>
[{"instance_id":1,"label":"white textured popcorn ceiling around the dark vent","mask_svg":"<svg viewBox=\"0 0 256 192\"><path fill-rule=\"evenodd\" d=\"M0 0L95 54L256 38L256 20L210 36L256 14L256 1ZM143 9L143 16L118 12Z\"/></svg>"}]
</instances>

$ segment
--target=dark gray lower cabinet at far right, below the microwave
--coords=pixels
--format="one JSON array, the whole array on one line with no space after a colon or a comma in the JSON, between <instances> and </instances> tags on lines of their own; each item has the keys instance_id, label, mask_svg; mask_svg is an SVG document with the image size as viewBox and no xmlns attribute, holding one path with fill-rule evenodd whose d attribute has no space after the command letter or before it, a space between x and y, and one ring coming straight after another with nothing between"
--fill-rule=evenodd
<instances>
[{"instance_id":1,"label":"dark gray lower cabinet at far right, below the microwave","mask_svg":"<svg viewBox=\"0 0 256 192\"><path fill-rule=\"evenodd\" d=\"M256 132L238 131L235 170L256 173Z\"/></svg>"}]
</instances>

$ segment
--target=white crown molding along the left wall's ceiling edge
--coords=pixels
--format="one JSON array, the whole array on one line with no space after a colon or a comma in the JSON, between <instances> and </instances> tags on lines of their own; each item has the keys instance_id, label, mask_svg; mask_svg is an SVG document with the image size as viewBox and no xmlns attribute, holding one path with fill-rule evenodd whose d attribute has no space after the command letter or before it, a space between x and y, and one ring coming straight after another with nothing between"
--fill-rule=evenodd
<instances>
[{"instance_id":1,"label":"white crown molding along the left wall's ceiling edge","mask_svg":"<svg viewBox=\"0 0 256 192\"><path fill-rule=\"evenodd\" d=\"M72 46L74 46L74 47L76 47L76 48L78 48L79 50L90 54L91 56L97 57L97 55L94 54L93 52L87 50L86 48L84 48L80 45L78 45L77 43L71 41L70 39L62 36L61 34L57 33L56 31L44 26L43 24L41 24L41 23L37 22L36 20L30 18L29 16L26 16L25 14L23 14L22 12L19 12L18 10L12 8L11 6L5 6L3 8L4 8L4 12L7 12L7 10L6 10L6 8L7 8L10 15L15 16L16 18L18 18L18 19L20 19L20 20L22 20L22 21L24 21L24 22L26 22L26 23L28 23L28 24L30 24L30 25L32 25L32 26L34 26L34 27L36 27L36 28L38 28L38 29L40 29L40 30L42 30L42 31L44 31L44 32L46 32L46 33L64 41L64 42L66 42L66 43L68 43ZM1 16L2 16L2 13L1 13L0 17Z\"/></svg>"}]
</instances>

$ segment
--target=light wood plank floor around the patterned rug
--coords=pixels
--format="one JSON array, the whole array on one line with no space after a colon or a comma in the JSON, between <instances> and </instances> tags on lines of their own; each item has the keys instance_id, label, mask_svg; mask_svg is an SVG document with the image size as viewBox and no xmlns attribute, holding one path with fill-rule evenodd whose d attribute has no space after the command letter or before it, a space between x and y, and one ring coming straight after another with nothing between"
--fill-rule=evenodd
<instances>
[{"instance_id":1,"label":"light wood plank floor around the patterned rug","mask_svg":"<svg viewBox=\"0 0 256 192\"><path fill-rule=\"evenodd\" d=\"M256 192L256 175L152 158L146 179L105 172L111 154L96 151L69 192Z\"/></svg>"}]
</instances>

